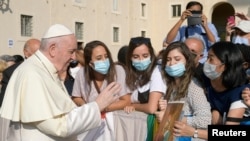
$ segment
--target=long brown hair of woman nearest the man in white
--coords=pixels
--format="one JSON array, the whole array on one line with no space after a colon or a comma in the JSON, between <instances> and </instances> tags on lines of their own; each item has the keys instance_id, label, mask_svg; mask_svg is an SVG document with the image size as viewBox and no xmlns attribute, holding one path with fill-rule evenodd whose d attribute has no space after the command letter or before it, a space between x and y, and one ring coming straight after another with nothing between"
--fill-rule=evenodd
<instances>
[{"instance_id":1,"label":"long brown hair of woman nearest the man in white","mask_svg":"<svg viewBox=\"0 0 250 141\"><path fill-rule=\"evenodd\" d=\"M91 89L91 87L90 87L91 81L95 80L95 77L94 77L94 70L89 64L91 61L93 50L94 50L94 48L96 48L98 46L102 46L106 50L108 58L109 58L109 62L110 62L110 68L108 70L108 73L105 75L105 79L107 80L107 83L109 84L116 79L116 70L115 70L113 59L112 59L112 55L111 55L108 47L101 41L98 41L98 40L91 41L91 42L87 43L85 48L84 48L84 61L85 61L85 65L84 65L84 74L85 75L84 76L85 76L85 79L86 79L90 89ZM90 89L89 89L89 91L90 91Z\"/></svg>"}]
</instances>

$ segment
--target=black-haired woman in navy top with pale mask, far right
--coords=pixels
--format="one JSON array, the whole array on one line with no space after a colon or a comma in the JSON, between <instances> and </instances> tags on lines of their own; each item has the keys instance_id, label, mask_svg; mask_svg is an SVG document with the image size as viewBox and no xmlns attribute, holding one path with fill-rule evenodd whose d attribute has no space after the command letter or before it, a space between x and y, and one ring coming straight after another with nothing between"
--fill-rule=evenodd
<instances>
[{"instance_id":1,"label":"black-haired woman in navy top with pale mask, far right","mask_svg":"<svg viewBox=\"0 0 250 141\"><path fill-rule=\"evenodd\" d=\"M211 83L207 91L213 124L241 123L247 108L241 92L250 86L243 64L241 51L231 42L217 42L209 50L203 71Z\"/></svg>"}]
</instances>

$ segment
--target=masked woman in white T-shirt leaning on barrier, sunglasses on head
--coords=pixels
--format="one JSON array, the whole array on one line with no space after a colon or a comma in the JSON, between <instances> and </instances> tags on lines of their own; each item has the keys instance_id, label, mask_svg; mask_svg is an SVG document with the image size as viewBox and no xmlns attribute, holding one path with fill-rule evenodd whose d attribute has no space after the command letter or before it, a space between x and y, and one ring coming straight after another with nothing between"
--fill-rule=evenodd
<instances>
[{"instance_id":1,"label":"masked woman in white T-shirt leaning on barrier, sunglasses on head","mask_svg":"<svg viewBox=\"0 0 250 141\"><path fill-rule=\"evenodd\" d=\"M162 78L156 66L156 56L150 39L131 38L126 61L128 67L126 83L133 91L131 95L133 104L127 106L125 111L130 113L137 110L153 114L157 111L155 102L163 96L166 86L162 83L155 86Z\"/></svg>"}]
</instances>

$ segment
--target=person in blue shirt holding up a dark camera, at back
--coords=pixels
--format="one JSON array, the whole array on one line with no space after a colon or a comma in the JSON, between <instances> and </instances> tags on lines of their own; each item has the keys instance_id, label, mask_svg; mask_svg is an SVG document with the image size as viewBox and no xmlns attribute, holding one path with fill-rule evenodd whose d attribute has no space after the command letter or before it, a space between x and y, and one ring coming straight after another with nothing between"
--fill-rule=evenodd
<instances>
[{"instance_id":1,"label":"person in blue shirt holding up a dark camera, at back","mask_svg":"<svg viewBox=\"0 0 250 141\"><path fill-rule=\"evenodd\" d=\"M204 56L200 60L204 63L207 59L207 51L209 47L220 40L217 29L212 23L207 21L207 17L202 13L203 6L197 1L190 1L186 5L186 10L182 13L181 18L168 32L164 45L174 41L184 41L189 36L198 35L201 36L205 42ZM185 20L188 20L188 25L183 25Z\"/></svg>"}]
</instances>

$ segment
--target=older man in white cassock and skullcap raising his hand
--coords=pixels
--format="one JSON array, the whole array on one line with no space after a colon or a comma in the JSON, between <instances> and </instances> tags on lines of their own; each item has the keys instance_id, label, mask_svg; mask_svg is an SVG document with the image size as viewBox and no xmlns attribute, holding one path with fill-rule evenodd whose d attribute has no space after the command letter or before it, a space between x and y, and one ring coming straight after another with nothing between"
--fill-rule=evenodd
<instances>
[{"instance_id":1,"label":"older man in white cassock and skullcap raising his hand","mask_svg":"<svg viewBox=\"0 0 250 141\"><path fill-rule=\"evenodd\" d=\"M75 59L76 48L68 28L52 25L40 49L15 70L0 111L10 121L2 140L75 141L76 135L100 125L100 111L117 100L121 88L111 83L96 101L77 107L57 74Z\"/></svg>"}]
</instances>

